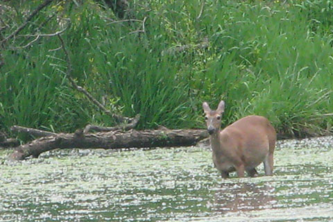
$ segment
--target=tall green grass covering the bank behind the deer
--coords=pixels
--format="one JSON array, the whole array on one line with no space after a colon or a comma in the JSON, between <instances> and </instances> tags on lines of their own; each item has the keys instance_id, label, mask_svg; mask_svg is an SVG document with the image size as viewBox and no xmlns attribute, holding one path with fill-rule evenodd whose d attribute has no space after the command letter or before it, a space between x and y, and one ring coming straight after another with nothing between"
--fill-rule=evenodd
<instances>
[{"instance_id":1,"label":"tall green grass covering the bank behind the deer","mask_svg":"<svg viewBox=\"0 0 333 222\"><path fill-rule=\"evenodd\" d=\"M92 1L50 7L71 19L65 39L72 76L114 112L142 119L139 129L203 127L201 103L226 101L224 125L248 114L268 117L287 135L332 132L333 17L326 1L136 1L136 19L117 22ZM26 3L19 10L31 7ZM19 17L19 15L17 15ZM14 24L13 24L14 26ZM56 19L42 28L51 33ZM138 30L143 30L137 32ZM58 28L60 29L60 28ZM6 31L6 35L11 30ZM200 44L208 40L207 47ZM19 41L28 42L24 37ZM74 131L114 121L71 89L56 37L4 51L0 130L14 124ZM184 46L178 51L179 46Z\"/></svg>"}]
</instances>

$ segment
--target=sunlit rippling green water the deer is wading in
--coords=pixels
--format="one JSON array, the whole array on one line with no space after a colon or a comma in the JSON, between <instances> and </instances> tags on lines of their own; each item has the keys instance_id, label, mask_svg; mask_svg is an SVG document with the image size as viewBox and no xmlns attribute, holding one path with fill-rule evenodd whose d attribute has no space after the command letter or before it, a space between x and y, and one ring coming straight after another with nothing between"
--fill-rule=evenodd
<instances>
[{"instance_id":1,"label":"sunlit rippling green water the deer is wading in","mask_svg":"<svg viewBox=\"0 0 333 222\"><path fill-rule=\"evenodd\" d=\"M205 146L8 162L0 221L333 221L333 137L278 143L274 176L223 180Z\"/></svg>"}]
</instances>

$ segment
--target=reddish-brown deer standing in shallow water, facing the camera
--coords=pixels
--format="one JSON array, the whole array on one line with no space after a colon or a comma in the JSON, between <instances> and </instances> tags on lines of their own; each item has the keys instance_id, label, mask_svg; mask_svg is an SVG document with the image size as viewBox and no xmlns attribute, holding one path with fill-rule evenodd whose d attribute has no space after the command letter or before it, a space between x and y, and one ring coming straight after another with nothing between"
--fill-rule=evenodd
<instances>
[{"instance_id":1,"label":"reddish-brown deer standing in shallow water, facing the camera","mask_svg":"<svg viewBox=\"0 0 333 222\"><path fill-rule=\"evenodd\" d=\"M262 116L250 115L221 130L224 108L224 101L216 110L211 110L208 103L203 102L214 167L222 178L228 178L233 171L237 171L239 178L244 177L245 171L248 176L256 177L258 172L255 167L263 162L265 175L272 176L276 132L270 121Z\"/></svg>"}]
</instances>

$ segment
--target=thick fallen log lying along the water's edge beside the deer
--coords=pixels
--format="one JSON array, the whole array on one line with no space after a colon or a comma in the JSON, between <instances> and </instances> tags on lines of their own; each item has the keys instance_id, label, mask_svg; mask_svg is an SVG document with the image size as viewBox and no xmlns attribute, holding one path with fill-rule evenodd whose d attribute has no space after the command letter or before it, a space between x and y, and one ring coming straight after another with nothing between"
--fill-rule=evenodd
<instances>
[{"instance_id":1,"label":"thick fallen log lying along the water's edge beside the deer","mask_svg":"<svg viewBox=\"0 0 333 222\"><path fill-rule=\"evenodd\" d=\"M15 148L8 157L10 160L24 160L26 157L38 157L40 153L56 148L155 148L173 146L193 146L208 137L207 130L130 130L128 132L110 131L84 134L59 133L35 139L28 144Z\"/></svg>"}]
</instances>

